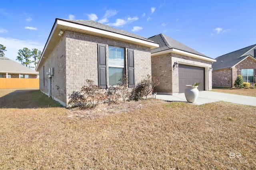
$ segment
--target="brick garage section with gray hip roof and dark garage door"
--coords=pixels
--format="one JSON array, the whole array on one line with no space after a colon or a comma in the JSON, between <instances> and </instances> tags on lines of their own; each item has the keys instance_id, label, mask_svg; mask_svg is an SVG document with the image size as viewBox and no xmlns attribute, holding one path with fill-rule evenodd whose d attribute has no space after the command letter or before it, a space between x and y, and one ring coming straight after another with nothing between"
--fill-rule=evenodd
<instances>
[{"instance_id":1,"label":"brick garage section with gray hip roof and dark garage door","mask_svg":"<svg viewBox=\"0 0 256 170\"><path fill-rule=\"evenodd\" d=\"M195 82L201 83L200 91L212 89L211 67L216 60L162 33L149 39L159 44L151 50L152 76L160 81L155 92L184 93L186 85Z\"/></svg>"}]
</instances>

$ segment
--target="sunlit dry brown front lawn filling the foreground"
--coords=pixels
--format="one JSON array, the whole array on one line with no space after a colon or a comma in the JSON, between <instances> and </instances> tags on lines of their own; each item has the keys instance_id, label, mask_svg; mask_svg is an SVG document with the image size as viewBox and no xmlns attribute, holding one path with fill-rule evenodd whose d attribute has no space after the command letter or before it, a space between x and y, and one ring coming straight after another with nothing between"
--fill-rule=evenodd
<instances>
[{"instance_id":1,"label":"sunlit dry brown front lawn filling the foreground","mask_svg":"<svg viewBox=\"0 0 256 170\"><path fill-rule=\"evenodd\" d=\"M0 109L0 169L256 169L256 107Z\"/></svg>"}]
</instances>

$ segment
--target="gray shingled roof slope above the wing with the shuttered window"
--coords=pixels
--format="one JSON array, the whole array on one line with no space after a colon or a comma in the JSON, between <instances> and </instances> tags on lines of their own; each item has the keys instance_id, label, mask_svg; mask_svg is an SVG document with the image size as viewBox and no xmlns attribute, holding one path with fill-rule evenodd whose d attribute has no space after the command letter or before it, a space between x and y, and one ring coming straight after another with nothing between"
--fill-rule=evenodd
<instances>
[{"instance_id":1,"label":"gray shingled roof slope above the wing with the shuttered window","mask_svg":"<svg viewBox=\"0 0 256 170\"><path fill-rule=\"evenodd\" d=\"M128 37L133 37L133 38L136 38L136 39L142 39L144 41L152 42L152 40L147 39L145 37L141 37L140 35L136 35L134 33L130 33L128 31L125 31L125 30L122 30L122 29L117 29L117 28L114 28L114 27L110 27L108 25L104 25L102 23L92 21L92 20L66 20L66 19L59 19L59 18L57 18L57 19L67 21L67 22L71 22L71 23L80 24L80 25L85 25L85 26L88 26L88 27L93 27L93 28L97 28L97 29L101 29L101 30L105 30L105 31L109 31L109 32L112 32L112 33L118 33L118 34L121 34L121 35L126 35Z\"/></svg>"}]
</instances>

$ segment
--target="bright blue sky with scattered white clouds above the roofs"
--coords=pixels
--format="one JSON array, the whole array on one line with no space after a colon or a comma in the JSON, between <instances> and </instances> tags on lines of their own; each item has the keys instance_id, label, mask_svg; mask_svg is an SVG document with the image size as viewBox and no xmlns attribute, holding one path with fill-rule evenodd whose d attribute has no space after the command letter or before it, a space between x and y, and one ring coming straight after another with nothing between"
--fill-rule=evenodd
<instances>
[{"instance_id":1,"label":"bright blue sky with scattered white clouds above the roofs","mask_svg":"<svg viewBox=\"0 0 256 170\"><path fill-rule=\"evenodd\" d=\"M43 51L56 18L94 20L146 38L163 33L213 59L256 44L256 0L2 0L5 57L16 61L24 47Z\"/></svg>"}]
</instances>

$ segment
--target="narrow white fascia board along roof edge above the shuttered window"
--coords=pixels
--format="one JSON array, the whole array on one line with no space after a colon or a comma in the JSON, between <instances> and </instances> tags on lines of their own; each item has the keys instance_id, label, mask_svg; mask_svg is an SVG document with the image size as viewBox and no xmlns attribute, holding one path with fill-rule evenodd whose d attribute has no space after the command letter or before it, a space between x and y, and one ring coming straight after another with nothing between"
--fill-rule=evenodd
<instances>
[{"instance_id":1,"label":"narrow white fascia board along roof edge above the shuttered window","mask_svg":"<svg viewBox=\"0 0 256 170\"><path fill-rule=\"evenodd\" d=\"M129 40L129 41L134 41L134 42L142 43L142 44L145 44L145 45L150 45L153 48L159 47L158 44L153 43L153 42L144 41L142 39L136 39L136 38L133 38L133 37L128 37L126 35L121 35L121 34L118 34L118 33L113 33L113 32L109 32L109 31L105 31L105 30L101 30L101 29L97 29L97 28L93 28L93 27L88 27L88 26L85 26L85 25L79 25L79 24L76 24L76 23L70 23L70 22L61 21L61 20L57 20L57 24L65 25L65 26L68 26L68 27L74 27L74 28L77 28L77 29L83 29L83 30L86 30L86 31L94 32L94 33L100 33L100 34L111 36L111 37L117 37L117 38Z\"/></svg>"}]
</instances>

